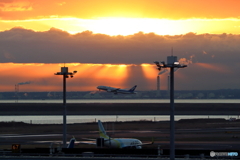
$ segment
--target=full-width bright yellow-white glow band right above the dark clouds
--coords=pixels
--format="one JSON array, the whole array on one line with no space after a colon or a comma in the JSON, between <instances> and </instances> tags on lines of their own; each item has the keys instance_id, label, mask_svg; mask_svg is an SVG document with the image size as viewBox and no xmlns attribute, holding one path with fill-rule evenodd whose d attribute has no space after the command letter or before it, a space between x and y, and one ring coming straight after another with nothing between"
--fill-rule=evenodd
<instances>
[{"instance_id":1,"label":"full-width bright yellow-white glow band right above the dark clouds","mask_svg":"<svg viewBox=\"0 0 240 160\"><path fill-rule=\"evenodd\" d=\"M233 33L239 34L239 19L152 19L152 18L47 18L30 20L0 20L0 31L13 27L23 27L35 31L47 31L58 28L71 34L86 30L93 33L116 35L132 35L138 32L158 35L179 35L194 32L197 34ZM177 26L177 27L176 27Z\"/></svg>"}]
</instances>

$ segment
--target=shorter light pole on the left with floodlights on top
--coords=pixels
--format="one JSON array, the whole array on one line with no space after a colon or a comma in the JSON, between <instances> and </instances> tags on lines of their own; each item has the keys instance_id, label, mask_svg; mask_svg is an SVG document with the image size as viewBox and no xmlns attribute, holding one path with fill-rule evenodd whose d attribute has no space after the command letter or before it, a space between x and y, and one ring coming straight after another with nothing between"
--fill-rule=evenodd
<instances>
[{"instance_id":1,"label":"shorter light pole on the left with floodlights on top","mask_svg":"<svg viewBox=\"0 0 240 160\"><path fill-rule=\"evenodd\" d=\"M63 76L63 147L66 147L66 134L67 134L67 106L66 106L66 78L73 78L77 71L68 72L68 67L61 67L61 72L55 75Z\"/></svg>"}]
</instances>

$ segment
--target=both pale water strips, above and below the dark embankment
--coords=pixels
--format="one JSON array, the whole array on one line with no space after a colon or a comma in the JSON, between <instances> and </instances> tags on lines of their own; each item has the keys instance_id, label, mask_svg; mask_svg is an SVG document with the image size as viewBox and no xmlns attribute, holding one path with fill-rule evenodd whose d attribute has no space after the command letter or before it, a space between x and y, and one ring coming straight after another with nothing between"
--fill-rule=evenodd
<instances>
[{"instance_id":1,"label":"both pale water strips, above and below the dark embankment","mask_svg":"<svg viewBox=\"0 0 240 160\"><path fill-rule=\"evenodd\" d=\"M240 103L240 99L176 99L176 103ZM14 100L0 100L0 103L15 103ZM62 100L19 100L18 103L62 103ZM67 100L67 103L169 103L168 99L77 99ZM238 116L175 116L175 120L193 118L239 118ZM86 123L101 120L107 121L166 121L169 116L67 116L67 123ZM62 124L62 116L1 116L2 122L25 122L32 124Z\"/></svg>"}]
</instances>

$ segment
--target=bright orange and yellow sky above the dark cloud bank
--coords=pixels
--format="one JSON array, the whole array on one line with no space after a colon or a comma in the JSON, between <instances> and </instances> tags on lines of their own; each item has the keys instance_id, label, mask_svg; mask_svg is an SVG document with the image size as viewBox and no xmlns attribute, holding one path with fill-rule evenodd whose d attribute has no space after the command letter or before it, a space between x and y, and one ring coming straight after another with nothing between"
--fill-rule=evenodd
<instances>
[{"instance_id":1,"label":"bright orange and yellow sky above the dark cloud bank","mask_svg":"<svg viewBox=\"0 0 240 160\"><path fill-rule=\"evenodd\" d=\"M21 26L108 35L239 34L238 0L1 0L0 31Z\"/></svg>"}]
</instances>

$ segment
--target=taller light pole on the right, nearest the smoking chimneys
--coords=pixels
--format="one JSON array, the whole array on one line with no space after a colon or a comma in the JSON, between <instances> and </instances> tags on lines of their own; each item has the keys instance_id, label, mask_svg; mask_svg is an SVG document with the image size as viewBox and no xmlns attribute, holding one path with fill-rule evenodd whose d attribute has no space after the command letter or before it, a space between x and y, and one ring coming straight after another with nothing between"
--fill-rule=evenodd
<instances>
[{"instance_id":1,"label":"taller light pole on the right, nearest the smoking chimneys","mask_svg":"<svg viewBox=\"0 0 240 160\"><path fill-rule=\"evenodd\" d=\"M174 68L184 68L187 65L180 65L177 61L177 56L168 56L167 64L165 62L154 62L157 65L157 69L170 68L170 159L175 159L175 122L174 122Z\"/></svg>"}]
</instances>

